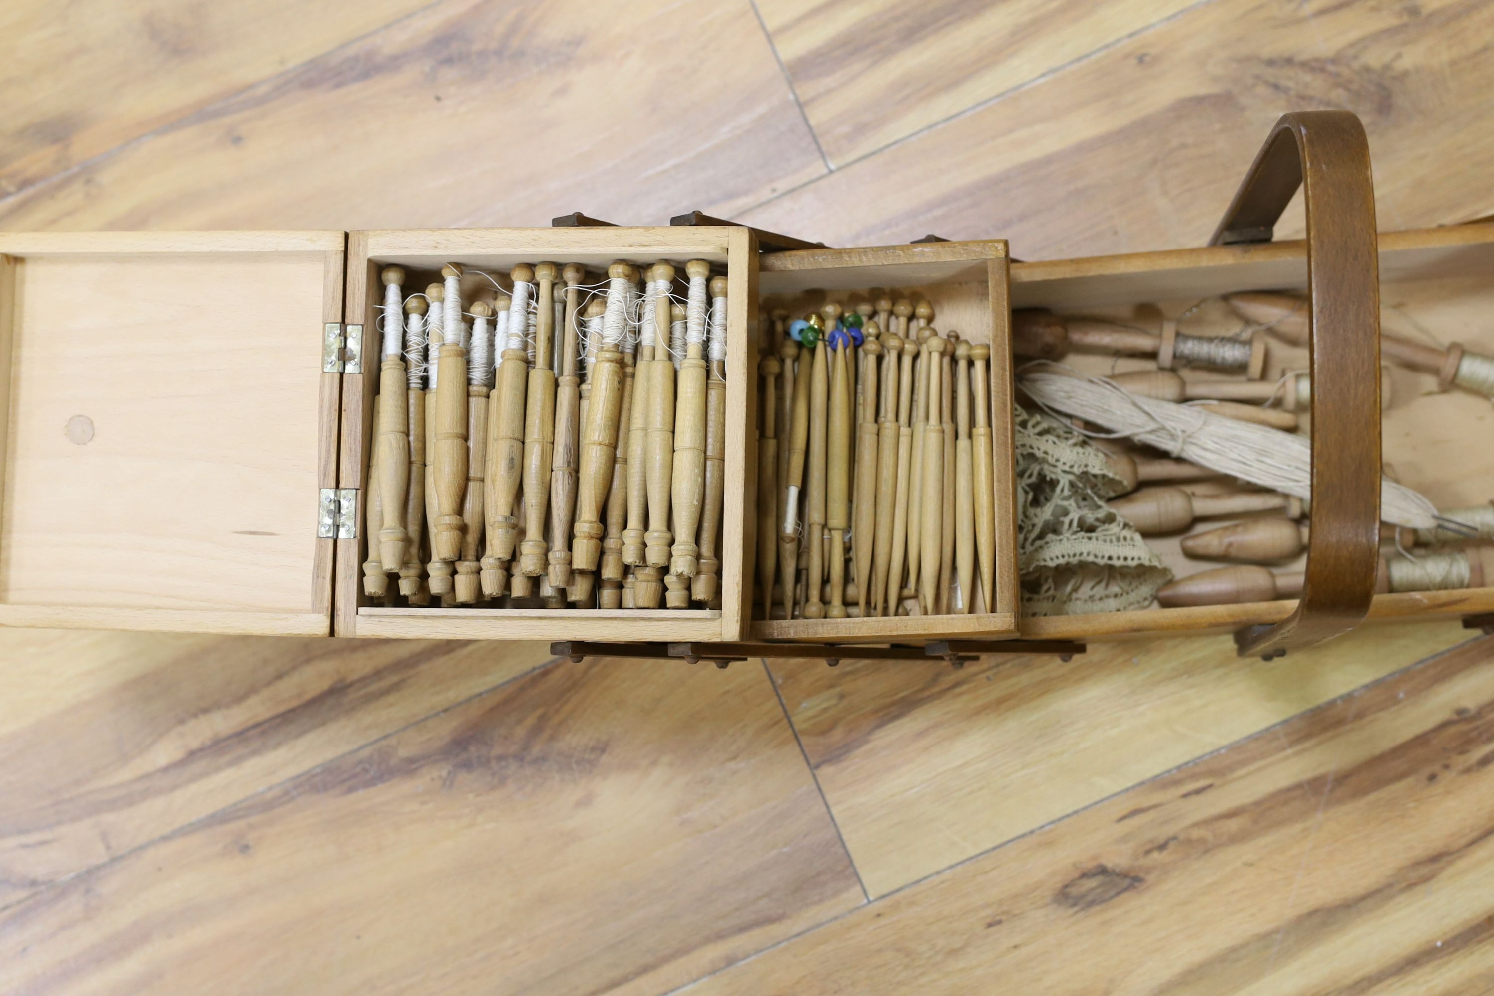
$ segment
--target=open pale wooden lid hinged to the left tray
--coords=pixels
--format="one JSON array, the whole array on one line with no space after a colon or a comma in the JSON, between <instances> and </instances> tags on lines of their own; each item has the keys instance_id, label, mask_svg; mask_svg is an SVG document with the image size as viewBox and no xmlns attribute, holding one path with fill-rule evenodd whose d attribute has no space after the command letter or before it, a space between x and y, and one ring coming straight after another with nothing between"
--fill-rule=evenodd
<instances>
[{"instance_id":1,"label":"open pale wooden lid hinged to the left tray","mask_svg":"<svg viewBox=\"0 0 1494 996\"><path fill-rule=\"evenodd\" d=\"M0 234L0 624L330 632L345 240Z\"/></svg>"}]
</instances>

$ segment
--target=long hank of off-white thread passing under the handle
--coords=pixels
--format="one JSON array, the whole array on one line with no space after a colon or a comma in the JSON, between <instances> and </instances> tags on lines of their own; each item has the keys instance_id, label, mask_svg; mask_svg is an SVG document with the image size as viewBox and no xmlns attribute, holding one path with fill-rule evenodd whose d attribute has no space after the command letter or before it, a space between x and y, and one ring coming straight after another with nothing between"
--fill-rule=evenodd
<instances>
[{"instance_id":1,"label":"long hank of off-white thread passing under the handle","mask_svg":"<svg viewBox=\"0 0 1494 996\"><path fill-rule=\"evenodd\" d=\"M1029 363L1025 369L1038 363ZM1055 363L1049 366L1062 367ZM1077 415L1112 430L1115 436L1131 436L1189 463L1304 502L1312 497L1312 443L1304 436L1212 415L1192 405L1140 397L1104 378L1026 373L1022 388L1044 409ZM1436 515L1436 506L1422 494L1382 479L1382 520L1395 526L1431 529L1437 521Z\"/></svg>"}]
</instances>

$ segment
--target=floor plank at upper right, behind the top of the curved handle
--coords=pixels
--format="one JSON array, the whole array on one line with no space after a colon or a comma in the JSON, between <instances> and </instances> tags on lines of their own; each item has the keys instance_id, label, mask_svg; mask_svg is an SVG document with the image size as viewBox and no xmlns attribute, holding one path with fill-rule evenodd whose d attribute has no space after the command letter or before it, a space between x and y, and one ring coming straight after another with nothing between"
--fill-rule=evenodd
<instances>
[{"instance_id":1,"label":"floor plank at upper right, behind the top of the curved handle","mask_svg":"<svg viewBox=\"0 0 1494 996\"><path fill-rule=\"evenodd\" d=\"M1448 164L1494 154L1490 37L1476 0L1219 0L740 220L831 245L1001 236L1023 260L1203 245L1271 122L1310 108L1364 119L1382 227L1478 218L1494 193Z\"/></svg>"}]
</instances>

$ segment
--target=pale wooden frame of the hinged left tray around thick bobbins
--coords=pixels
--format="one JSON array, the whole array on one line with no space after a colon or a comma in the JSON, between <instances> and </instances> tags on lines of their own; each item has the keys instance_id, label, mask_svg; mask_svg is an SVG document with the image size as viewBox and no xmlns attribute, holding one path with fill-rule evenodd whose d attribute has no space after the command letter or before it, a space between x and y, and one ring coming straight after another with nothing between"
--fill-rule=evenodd
<instances>
[{"instance_id":1,"label":"pale wooden frame of the hinged left tray around thick bobbins","mask_svg":"<svg viewBox=\"0 0 1494 996\"><path fill-rule=\"evenodd\" d=\"M520 263L581 263L593 275L626 260L644 267L668 260L683 272L689 260L726 267L726 487L722 515L720 609L517 609L517 608L385 608L362 590L366 538L338 541L338 636L406 636L460 639L584 641L737 641L746 624L744 594L751 570L751 497L756 494L756 327L757 249L743 227L572 227L354 231L348 245L348 321L376 327L382 288L379 270L403 266L408 287L423 288L447 263L469 270L503 272ZM593 276L593 279L596 279ZM487 284L469 272L465 293ZM748 332L751 330L751 332ZM357 484L368 473L372 400L378 366L344 376L339 479ZM363 512L359 512L362 521Z\"/></svg>"}]
</instances>

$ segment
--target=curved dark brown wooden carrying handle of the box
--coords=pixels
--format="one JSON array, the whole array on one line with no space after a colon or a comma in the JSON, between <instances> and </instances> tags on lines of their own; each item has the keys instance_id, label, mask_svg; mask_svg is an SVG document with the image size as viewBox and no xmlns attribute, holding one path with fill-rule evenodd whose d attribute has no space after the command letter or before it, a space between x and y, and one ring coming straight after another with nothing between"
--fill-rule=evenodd
<instances>
[{"instance_id":1,"label":"curved dark brown wooden carrying handle of the box","mask_svg":"<svg viewBox=\"0 0 1494 996\"><path fill-rule=\"evenodd\" d=\"M1240 656L1280 656L1370 611L1380 545L1380 269L1364 125L1348 111L1285 113L1210 245L1270 242L1303 188L1312 376L1312 530L1291 617L1236 633Z\"/></svg>"}]
</instances>

